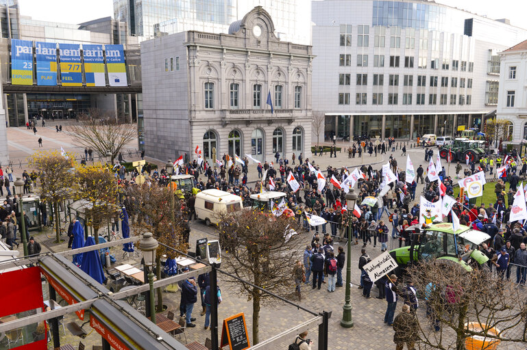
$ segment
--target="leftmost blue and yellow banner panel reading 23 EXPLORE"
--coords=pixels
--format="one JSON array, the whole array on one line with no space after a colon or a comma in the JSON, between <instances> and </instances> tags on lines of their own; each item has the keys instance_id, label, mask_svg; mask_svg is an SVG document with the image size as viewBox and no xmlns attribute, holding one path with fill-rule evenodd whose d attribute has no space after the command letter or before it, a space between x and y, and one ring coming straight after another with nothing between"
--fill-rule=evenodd
<instances>
[{"instance_id":1,"label":"leftmost blue and yellow banner panel reading 23 EXPLORE","mask_svg":"<svg viewBox=\"0 0 527 350\"><path fill-rule=\"evenodd\" d=\"M11 84L33 85L33 42L11 40Z\"/></svg>"}]
</instances>

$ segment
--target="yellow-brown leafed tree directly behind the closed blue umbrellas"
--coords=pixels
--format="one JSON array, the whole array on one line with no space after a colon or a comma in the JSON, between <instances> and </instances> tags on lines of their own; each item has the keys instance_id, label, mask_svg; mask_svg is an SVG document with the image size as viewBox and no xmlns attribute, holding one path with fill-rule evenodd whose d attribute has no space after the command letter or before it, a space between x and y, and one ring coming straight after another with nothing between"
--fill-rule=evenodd
<instances>
[{"instance_id":1,"label":"yellow-brown leafed tree directly behind the closed blue umbrellas","mask_svg":"<svg viewBox=\"0 0 527 350\"><path fill-rule=\"evenodd\" d=\"M95 243L99 244L99 228L119 211L119 188L112 170L106 165L95 163L77 167L75 197L81 202L80 208L91 222Z\"/></svg>"}]
</instances>

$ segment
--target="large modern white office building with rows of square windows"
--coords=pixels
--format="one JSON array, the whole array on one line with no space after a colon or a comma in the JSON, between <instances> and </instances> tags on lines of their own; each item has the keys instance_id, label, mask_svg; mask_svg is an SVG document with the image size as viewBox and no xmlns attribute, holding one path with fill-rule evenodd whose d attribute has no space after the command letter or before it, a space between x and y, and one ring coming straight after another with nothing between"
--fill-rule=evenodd
<instances>
[{"instance_id":1,"label":"large modern white office building with rows of square windows","mask_svg":"<svg viewBox=\"0 0 527 350\"><path fill-rule=\"evenodd\" d=\"M326 140L481 128L498 103L498 52L527 38L428 1L312 1L312 22L312 105Z\"/></svg>"}]
</instances>

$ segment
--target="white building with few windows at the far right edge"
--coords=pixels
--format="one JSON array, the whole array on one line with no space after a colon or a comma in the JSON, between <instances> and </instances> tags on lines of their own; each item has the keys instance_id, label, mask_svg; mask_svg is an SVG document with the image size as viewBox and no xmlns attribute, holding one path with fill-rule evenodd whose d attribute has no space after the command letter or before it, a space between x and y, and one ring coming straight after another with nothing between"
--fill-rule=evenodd
<instances>
[{"instance_id":1,"label":"white building with few windows at the far right edge","mask_svg":"<svg viewBox=\"0 0 527 350\"><path fill-rule=\"evenodd\" d=\"M496 118L510 122L501 131L504 141L519 144L527 139L527 40L500 53L500 91Z\"/></svg>"}]
</instances>

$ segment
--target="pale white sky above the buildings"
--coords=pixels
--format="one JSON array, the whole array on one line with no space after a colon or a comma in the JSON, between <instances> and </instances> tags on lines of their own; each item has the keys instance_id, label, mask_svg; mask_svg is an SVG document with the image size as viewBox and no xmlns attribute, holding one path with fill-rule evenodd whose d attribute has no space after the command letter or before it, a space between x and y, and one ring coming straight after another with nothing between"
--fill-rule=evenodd
<instances>
[{"instance_id":1,"label":"pale white sky above the buildings","mask_svg":"<svg viewBox=\"0 0 527 350\"><path fill-rule=\"evenodd\" d=\"M173 0L177 1L177 0ZM489 18L508 18L512 25L526 27L526 0L436 0ZM82 23L95 18L113 17L112 0L19 0L21 14L40 21ZM73 7L72 7L73 5Z\"/></svg>"}]
</instances>

